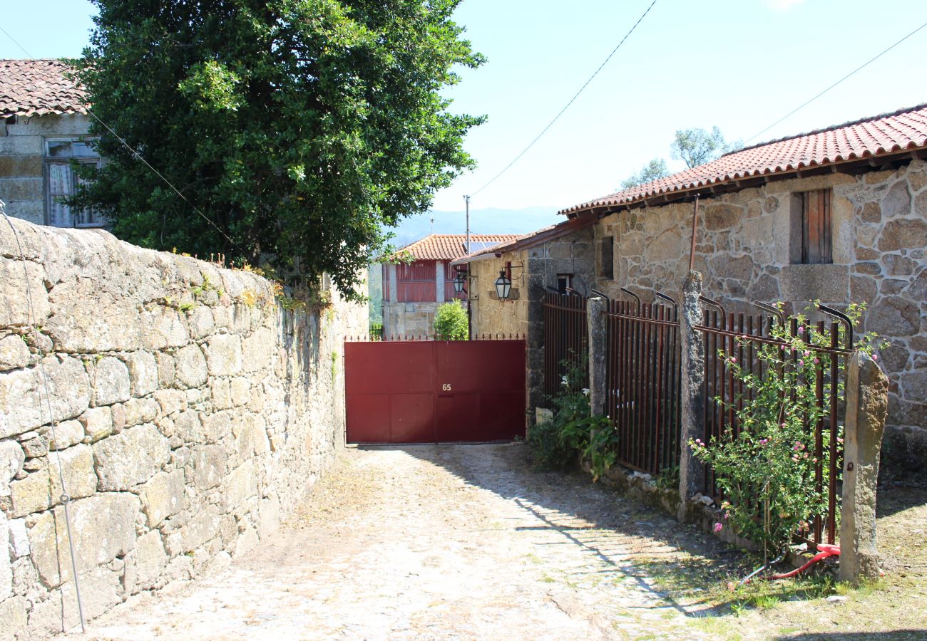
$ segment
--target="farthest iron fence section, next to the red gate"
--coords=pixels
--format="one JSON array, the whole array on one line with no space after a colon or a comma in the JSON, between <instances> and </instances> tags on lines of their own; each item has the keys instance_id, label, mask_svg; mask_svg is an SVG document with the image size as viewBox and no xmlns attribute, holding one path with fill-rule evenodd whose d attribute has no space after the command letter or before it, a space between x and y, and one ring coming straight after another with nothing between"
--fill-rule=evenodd
<instances>
[{"instance_id":1,"label":"farthest iron fence section, next to the red gate","mask_svg":"<svg viewBox=\"0 0 927 641\"><path fill-rule=\"evenodd\" d=\"M566 363L582 367L588 349L586 298L548 292L544 295L544 396L557 396ZM586 383L588 385L588 369Z\"/></svg>"}]
</instances>

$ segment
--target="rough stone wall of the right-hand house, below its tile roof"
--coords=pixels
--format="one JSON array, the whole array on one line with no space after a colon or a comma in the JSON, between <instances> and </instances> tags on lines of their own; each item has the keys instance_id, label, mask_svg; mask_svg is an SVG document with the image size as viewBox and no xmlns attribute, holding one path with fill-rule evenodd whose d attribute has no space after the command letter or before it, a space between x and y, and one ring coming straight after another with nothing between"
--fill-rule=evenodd
<instances>
[{"instance_id":1,"label":"rough stone wall of the right-hand house, below its tile roof","mask_svg":"<svg viewBox=\"0 0 927 641\"><path fill-rule=\"evenodd\" d=\"M791 264L793 195L832 188L832 265ZM615 238L615 278L597 288L620 296L653 289L679 297L689 269L692 204L624 211L603 218L595 239ZM756 313L751 301L803 310L819 298L836 307L866 302L865 329L892 346L882 353L891 381L889 448L908 462L927 459L927 164L893 171L830 174L769 182L702 200L695 269L705 295L728 311ZM598 246L598 245L596 245ZM600 259L600 257L596 257ZM899 436L903 436L899 438Z\"/></svg>"}]
</instances>

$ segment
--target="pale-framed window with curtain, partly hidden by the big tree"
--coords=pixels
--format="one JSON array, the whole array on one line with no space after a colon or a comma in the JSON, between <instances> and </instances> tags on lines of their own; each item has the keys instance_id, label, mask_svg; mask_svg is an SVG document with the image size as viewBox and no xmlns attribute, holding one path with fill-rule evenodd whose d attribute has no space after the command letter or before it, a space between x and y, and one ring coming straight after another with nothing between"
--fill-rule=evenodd
<instances>
[{"instance_id":1,"label":"pale-framed window with curtain, partly hidden by the big tree","mask_svg":"<svg viewBox=\"0 0 927 641\"><path fill-rule=\"evenodd\" d=\"M89 141L80 138L45 139L46 219L54 227L102 227L106 220L93 209L72 209L62 202L75 195L83 182L71 167L71 160L88 165L100 164L100 157Z\"/></svg>"}]
</instances>

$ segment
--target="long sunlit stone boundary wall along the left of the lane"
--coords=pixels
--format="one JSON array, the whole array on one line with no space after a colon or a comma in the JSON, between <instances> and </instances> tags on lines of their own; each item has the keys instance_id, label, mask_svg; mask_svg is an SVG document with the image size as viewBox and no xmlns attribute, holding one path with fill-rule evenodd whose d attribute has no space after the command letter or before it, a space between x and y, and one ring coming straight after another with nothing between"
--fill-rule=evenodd
<instances>
[{"instance_id":1,"label":"long sunlit stone boundary wall along the left of the lane","mask_svg":"<svg viewBox=\"0 0 927 641\"><path fill-rule=\"evenodd\" d=\"M253 273L13 224L26 259L0 220L0 636L36 638L78 622L63 492L89 617L272 536L343 442L341 338L367 312L337 295L287 311Z\"/></svg>"}]
</instances>

